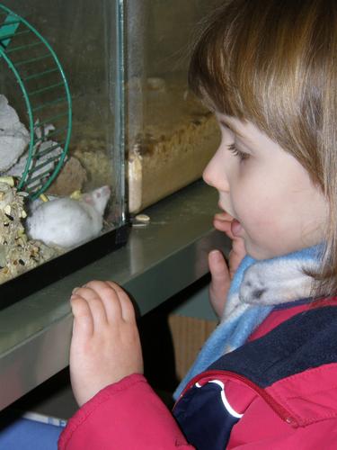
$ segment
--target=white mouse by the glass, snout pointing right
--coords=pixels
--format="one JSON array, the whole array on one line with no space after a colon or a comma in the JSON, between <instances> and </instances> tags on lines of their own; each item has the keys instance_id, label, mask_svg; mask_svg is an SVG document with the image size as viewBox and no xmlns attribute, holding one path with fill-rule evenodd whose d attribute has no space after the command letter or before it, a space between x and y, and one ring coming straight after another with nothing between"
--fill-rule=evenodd
<instances>
[{"instance_id":1,"label":"white mouse by the glass, snout pointing right","mask_svg":"<svg viewBox=\"0 0 337 450\"><path fill-rule=\"evenodd\" d=\"M84 193L80 200L68 197L42 202L31 209L26 231L31 239L49 246L75 247L95 238L102 230L103 212L110 198L109 186Z\"/></svg>"}]
</instances>

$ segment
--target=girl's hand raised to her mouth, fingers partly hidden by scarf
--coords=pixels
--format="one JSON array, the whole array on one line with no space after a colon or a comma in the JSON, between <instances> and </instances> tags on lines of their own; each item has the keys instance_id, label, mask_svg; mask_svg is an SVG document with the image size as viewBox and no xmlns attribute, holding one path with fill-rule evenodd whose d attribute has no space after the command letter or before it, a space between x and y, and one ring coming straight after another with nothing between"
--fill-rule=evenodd
<instances>
[{"instance_id":1,"label":"girl's hand raised to her mouth, fingers partly hidden by scarf","mask_svg":"<svg viewBox=\"0 0 337 450\"><path fill-rule=\"evenodd\" d=\"M219 319L224 312L233 275L246 254L244 239L233 236L231 232L232 220L233 217L227 212L219 212L214 216L213 221L216 229L225 232L228 238L232 239L232 250L228 256L228 264L219 250L212 250L208 255L208 266L212 276L209 284L209 302Z\"/></svg>"}]
</instances>

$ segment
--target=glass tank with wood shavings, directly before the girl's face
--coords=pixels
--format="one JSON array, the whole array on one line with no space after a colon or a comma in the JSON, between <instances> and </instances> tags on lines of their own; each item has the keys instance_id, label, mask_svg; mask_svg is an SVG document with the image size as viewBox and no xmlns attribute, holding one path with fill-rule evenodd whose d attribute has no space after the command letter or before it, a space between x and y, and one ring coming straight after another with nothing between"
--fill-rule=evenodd
<instances>
[{"instance_id":1,"label":"glass tank with wood shavings, directly before the girl's face","mask_svg":"<svg viewBox=\"0 0 337 450\"><path fill-rule=\"evenodd\" d=\"M213 115L188 90L189 51L219 0L125 3L129 210L139 211L200 178L217 148Z\"/></svg>"}]
</instances>

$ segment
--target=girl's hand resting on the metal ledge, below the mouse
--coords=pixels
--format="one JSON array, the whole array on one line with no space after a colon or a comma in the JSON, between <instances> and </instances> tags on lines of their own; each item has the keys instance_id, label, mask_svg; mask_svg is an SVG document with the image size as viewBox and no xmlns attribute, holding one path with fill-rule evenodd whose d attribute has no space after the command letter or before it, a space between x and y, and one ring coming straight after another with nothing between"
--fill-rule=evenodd
<instances>
[{"instance_id":1,"label":"girl's hand resting on the metal ledge, below the mouse","mask_svg":"<svg viewBox=\"0 0 337 450\"><path fill-rule=\"evenodd\" d=\"M74 290L70 377L79 406L111 383L143 373L135 311L118 284L92 281Z\"/></svg>"}]
</instances>

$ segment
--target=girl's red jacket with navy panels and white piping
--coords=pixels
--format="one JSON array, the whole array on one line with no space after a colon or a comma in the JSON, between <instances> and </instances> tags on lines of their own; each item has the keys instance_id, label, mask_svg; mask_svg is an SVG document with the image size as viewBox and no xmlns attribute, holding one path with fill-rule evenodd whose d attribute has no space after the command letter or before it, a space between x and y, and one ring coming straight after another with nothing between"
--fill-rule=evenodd
<instances>
[{"instance_id":1,"label":"girl's red jacket with navy panels and white piping","mask_svg":"<svg viewBox=\"0 0 337 450\"><path fill-rule=\"evenodd\" d=\"M208 372L192 380L177 402L174 414L190 442L193 439L197 442L195 446L188 444L173 415L144 376L133 374L106 387L84 404L69 420L58 448L337 448L335 301L326 301L315 309L304 304L271 312L249 343L228 354L230 357L224 356L225 359L219 360ZM280 337L284 339L280 340ZM195 401L200 404L200 398L205 397L203 390L208 398L209 393L216 392L213 388L219 390L221 384L226 390L221 392L222 409L233 421L228 427L226 425L225 440L213 446L210 441L216 433L211 429L206 436L208 427L213 424L213 403L208 409L210 416L207 413L203 417L198 413L199 407L196 409L193 404ZM217 395L217 400L219 398ZM206 410L208 403L205 401ZM217 419L215 417L215 422ZM221 421L220 425L223 432L226 427ZM201 442L205 436L206 444Z\"/></svg>"}]
</instances>

